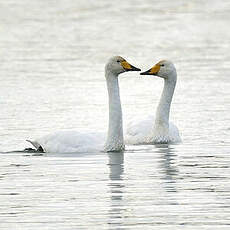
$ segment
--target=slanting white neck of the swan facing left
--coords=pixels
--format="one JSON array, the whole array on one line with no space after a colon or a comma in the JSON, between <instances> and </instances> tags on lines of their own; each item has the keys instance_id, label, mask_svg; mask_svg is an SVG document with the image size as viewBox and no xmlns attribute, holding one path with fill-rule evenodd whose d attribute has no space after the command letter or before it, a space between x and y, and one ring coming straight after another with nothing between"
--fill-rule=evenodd
<instances>
[{"instance_id":1,"label":"slanting white neck of the swan facing left","mask_svg":"<svg viewBox=\"0 0 230 230\"><path fill-rule=\"evenodd\" d=\"M164 79L164 89L161 94L161 99L156 112L156 120L154 125L155 130L163 128L164 130L166 129L168 131L170 106L176 86L176 72L173 74L175 74L175 78L173 80Z\"/></svg>"}]
</instances>

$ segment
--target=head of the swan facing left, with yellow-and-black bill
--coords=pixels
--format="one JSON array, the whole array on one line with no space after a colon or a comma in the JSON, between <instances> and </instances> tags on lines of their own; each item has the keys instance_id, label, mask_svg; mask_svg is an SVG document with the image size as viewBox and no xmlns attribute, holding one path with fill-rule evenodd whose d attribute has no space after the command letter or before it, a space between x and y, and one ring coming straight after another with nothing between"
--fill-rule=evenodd
<instances>
[{"instance_id":1,"label":"head of the swan facing left, with yellow-and-black bill","mask_svg":"<svg viewBox=\"0 0 230 230\"><path fill-rule=\"evenodd\" d=\"M171 61L162 60L141 75L155 75L168 80L176 80L176 68Z\"/></svg>"}]
</instances>

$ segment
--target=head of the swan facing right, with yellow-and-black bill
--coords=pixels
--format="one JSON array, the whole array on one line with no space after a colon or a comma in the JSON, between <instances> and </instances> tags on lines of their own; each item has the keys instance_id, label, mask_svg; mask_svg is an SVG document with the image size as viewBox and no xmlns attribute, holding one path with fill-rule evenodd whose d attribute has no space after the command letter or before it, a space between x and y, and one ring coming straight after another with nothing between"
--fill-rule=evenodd
<instances>
[{"instance_id":1,"label":"head of the swan facing right, with yellow-and-black bill","mask_svg":"<svg viewBox=\"0 0 230 230\"><path fill-rule=\"evenodd\" d=\"M128 71L141 71L139 68L129 64L123 57L114 56L109 59L105 66L106 72L111 72L114 75L119 75Z\"/></svg>"}]
</instances>

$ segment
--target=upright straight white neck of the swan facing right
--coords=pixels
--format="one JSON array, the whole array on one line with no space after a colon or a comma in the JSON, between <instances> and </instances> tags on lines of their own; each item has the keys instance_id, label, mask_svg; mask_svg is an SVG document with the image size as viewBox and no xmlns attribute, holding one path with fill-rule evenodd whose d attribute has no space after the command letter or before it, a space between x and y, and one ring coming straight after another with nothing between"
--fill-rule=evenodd
<instances>
[{"instance_id":1,"label":"upright straight white neck of the swan facing right","mask_svg":"<svg viewBox=\"0 0 230 230\"><path fill-rule=\"evenodd\" d=\"M118 76L109 71L105 75L109 96L109 128L105 151L119 152L124 150L124 138Z\"/></svg>"}]
</instances>

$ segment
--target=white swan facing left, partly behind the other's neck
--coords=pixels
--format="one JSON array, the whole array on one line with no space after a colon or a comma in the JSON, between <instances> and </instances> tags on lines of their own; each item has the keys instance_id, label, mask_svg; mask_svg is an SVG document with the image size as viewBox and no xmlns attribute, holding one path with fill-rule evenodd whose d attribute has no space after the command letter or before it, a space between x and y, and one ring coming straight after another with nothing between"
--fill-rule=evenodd
<instances>
[{"instance_id":1,"label":"white swan facing left, partly behind the other's neck","mask_svg":"<svg viewBox=\"0 0 230 230\"><path fill-rule=\"evenodd\" d=\"M177 81L177 72L170 61L160 61L141 75L155 75L164 79L164 89L153 118L128 125L125 141L127 144L158 144L181 142L178 128L169 122L170 106Z\"/></svg>"}]
</instances>

